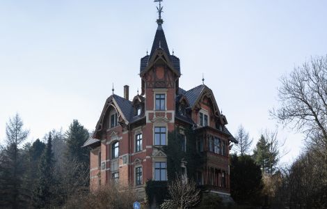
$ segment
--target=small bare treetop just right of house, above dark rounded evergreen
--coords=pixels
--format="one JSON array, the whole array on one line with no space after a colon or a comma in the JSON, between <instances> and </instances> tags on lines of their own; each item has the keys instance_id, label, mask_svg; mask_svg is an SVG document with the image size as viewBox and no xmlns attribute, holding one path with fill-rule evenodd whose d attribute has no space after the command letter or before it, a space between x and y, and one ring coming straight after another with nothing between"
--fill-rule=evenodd
<instances>
[{"instance_id":1,"label":"small bare treetop just right of house, above dark rounded evergreen","mask_svg":"<svg viewBox=\"0 0 327 209\"><path fill-rule=\"evenodd\" d=\"M241 153L241 156L247 154L250 150L252 139L249 139L248 132L244 129L243 125L239 125L235 139L239 141L239 144L235 144L237 152Z\"/></svg>"}]
</instances>

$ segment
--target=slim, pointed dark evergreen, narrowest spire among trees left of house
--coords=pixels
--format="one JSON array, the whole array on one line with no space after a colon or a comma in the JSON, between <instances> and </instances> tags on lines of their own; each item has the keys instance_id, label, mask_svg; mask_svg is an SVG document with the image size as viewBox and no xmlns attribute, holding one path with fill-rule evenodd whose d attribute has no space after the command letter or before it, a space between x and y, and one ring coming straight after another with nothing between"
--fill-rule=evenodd
<instances>
[{"instance_id":1,"label":"slim, pointed dark evergreen, narrowest spire among trees left of house","mask_svg":"<svg viewBox=\"0 0 327 209\"><path fill-rule=\"evenodd\" d=\"M51 132L49 132L47 146L40 160L39 175L38 185L34 194L34 205L35 208L50 208L55 185Z\"/></svg>"}]
</instances>

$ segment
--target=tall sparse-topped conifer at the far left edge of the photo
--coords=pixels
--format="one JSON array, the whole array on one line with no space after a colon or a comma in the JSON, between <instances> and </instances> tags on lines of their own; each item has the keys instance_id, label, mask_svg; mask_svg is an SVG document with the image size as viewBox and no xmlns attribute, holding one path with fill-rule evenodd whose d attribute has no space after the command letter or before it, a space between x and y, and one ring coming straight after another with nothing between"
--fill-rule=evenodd
<instances>
[{"instance_id":1,"label":"tall sparse-topped conifer at the far left edge of the photo","mask_svg":"<svg viewBox=\"0 0 327 209\"><path fill-rule=\"evenodd\" d=\"M6 147L1 153L0 164L0 206L3 208L22 208L28 201L23 187L24 159L19 146L29 131L24 130L23 125L19 114L6 124Z\"/></svg>"}]
</instances>

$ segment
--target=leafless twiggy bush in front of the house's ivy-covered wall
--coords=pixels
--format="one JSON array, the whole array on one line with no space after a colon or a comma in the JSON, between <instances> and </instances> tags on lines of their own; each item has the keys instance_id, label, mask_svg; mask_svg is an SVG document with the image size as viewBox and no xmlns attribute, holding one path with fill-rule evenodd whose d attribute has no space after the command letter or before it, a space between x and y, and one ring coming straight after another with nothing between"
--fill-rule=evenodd
<instances>
[{"instance_id":1,"label":"leafless twiggy bush in front of the house's ivy-covered wall","mask_svg":"<svg viewBox=\"0 0 327 209\"><path fill-rule=\"evenodd\" d=\"M168 192L171 199L165 200L161 204L163 209L189 208L196 206L200 201L200 189L196 189L196 183L193 180L189 182L183 180L182 176L168 184Z\"/></svg>"}]
</instances>

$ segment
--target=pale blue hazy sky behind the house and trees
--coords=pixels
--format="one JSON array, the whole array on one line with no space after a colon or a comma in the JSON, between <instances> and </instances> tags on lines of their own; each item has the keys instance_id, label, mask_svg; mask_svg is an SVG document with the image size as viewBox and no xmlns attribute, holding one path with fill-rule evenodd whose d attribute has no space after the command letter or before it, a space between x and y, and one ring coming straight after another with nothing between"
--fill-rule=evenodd
<instances>
[{"instance_id":1,"label":"pale blue hazy sky behind the house and trees","mask_svg":"<svg viewBox=\"0 0 327 209\"><path fill-rule=\"evenodd\" d=\"M327 54L327 1L164 0L163 30L180 58L180 86L205 84L235 133L255 146L264 130L286 140L292 162L303 134L269 116L280 77ZM0 1L0 144L19 113L29 139L67 130L78 119L94 130L106 98L141 88L140 59L157 29L153 1Z\"/></svg>"}]
</instances>

